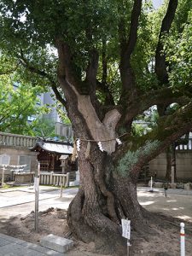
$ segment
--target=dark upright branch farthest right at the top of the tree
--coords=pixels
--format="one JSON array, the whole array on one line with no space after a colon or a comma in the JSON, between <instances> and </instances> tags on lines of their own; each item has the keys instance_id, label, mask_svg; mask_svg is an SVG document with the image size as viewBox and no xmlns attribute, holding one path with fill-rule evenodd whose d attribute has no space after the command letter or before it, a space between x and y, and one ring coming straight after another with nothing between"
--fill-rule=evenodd
<instances>
[{"instance_id":1,"label":"dark upright branch farthest right at the top of the tree","mask_svg":"<svg viewBox=\"0 0 192 256\"><path fill-rule=\"evenodd\" d=\"M175 17L176 9L177 9L177 0L170 0L168 8L166 10L166 15L162 20L162 24L160 27L159 41L157 44L157 49L155 54L155 73L157 75L157 78L160 81L160 84L168 83L166 56L162 54L163 44L161 42L161 39L162 39L162 35L165 32L169 32L172 26L172 21Z\"/></svg>"}]
</instances>

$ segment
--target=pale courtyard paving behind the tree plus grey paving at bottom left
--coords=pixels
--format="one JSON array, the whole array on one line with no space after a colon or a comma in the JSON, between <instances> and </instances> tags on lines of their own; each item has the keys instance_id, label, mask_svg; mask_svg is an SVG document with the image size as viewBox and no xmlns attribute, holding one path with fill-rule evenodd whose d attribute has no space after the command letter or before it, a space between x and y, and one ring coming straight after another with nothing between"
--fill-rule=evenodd
<instances>
[{"instance_id":1,"label":"pale courtyard paving behind the tree plus grey paving at bottom left","mask_svg":"<svg viewBox=\"0 0 192 256\"><path fill-rule=\"evenodd\" d=\"M19 213L21 213L21 207L25 207L26 212L30 212L31 206L34 201L34 192L32 188L22 188L15 189L16 200L12 198L13 190L9 189L9 192L1 190L0 192L0 217L2 218L2 212L8 214L8 212L17 213L16 208L18 207ZM20 190L20 194L18 193ZM29 192L29 190L31 190ZM47 190L45 192L45 190ZM167 197L165 197L164 189L154 188L154 193L148 192L148 187L137 187L138 200L146 209L152 212L163 212L168 215L183 218L183 220L189 220L192 222L192 206L191 206L191 196L192 190L184 189L168 189ZM53 188L42 187L41 190L41 202L47 202L44 205L45 208L48 207L61 207L61 204L67 203L73 199L73 196L77 193L78 189L65 189L63 192L63 197L60 198L60 190ZM8 192L8 193L6 193ZM23 192L26 192L26 196ZM18 193L18 194L17 194ZM23 195L22 195L23 194ZM29 195L30 194L30 195ZM47 199L45 199L47 198ZM10 211L12 207L12 211ZM33 207L33 205L31 206ZM14 214L13 214L14 215ZM69 251L67 253L57 253L53 250L47 249L45 247L32 244L30 242L21 241L14 237L5 236L0 234L0 256L87 256L93 255L91 253L79 252L79 250Z\"/></svg>"}]
</instances>

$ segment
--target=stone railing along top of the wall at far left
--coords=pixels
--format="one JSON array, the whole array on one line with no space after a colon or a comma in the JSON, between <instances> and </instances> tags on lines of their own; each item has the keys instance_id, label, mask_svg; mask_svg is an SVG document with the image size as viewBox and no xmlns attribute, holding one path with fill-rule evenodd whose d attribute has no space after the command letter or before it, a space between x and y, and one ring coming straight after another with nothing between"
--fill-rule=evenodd
<instances>
[{"instance_id":1,"label":"stone railing along top of the wall at far left","mask_svg":"<svg viewBox=\"0 0 192 256\"><path fill-rule=\"evenodd\" d=\"M36 140L36 137L0 132L0 145L3 146L32 148Z\"/></svg>"}]
</instances>

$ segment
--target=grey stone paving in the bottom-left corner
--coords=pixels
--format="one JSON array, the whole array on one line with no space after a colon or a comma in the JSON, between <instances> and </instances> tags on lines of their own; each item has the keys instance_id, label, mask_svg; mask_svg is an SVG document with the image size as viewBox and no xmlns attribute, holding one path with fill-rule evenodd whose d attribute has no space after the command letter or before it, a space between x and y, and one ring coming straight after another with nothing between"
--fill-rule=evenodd
<instances>
[{"instance_id":1,"label":"grey stone paving in the bottom-left corner","mask_svg":"<svg viewBox=\"0 0 192 256\"><path fill-rule=\"evenodd\" d=\"M64 256L45 247L0 234L0 256Z\"/></svg>"}]
</instances>

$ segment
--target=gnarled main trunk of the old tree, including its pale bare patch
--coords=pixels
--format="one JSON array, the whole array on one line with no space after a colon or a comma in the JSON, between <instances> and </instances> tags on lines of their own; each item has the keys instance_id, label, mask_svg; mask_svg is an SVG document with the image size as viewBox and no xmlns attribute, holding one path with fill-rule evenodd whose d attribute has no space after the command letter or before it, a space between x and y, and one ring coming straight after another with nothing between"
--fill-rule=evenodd
<instances>
[{"instance_id":1,"label":"gnarled main trunk of the old tree, including its pale bare patch","mask_svg":"<svg viewBox=\"0 0 192 256\"><path fill-rule=\"evenodd\" d=\"M136 183L131 177L119 177L115 172L115 126L117 110L109 111L101 121L88 96L80 96L73 85L65 90L69 118L76 138L80 138L78 153L80 186L71 202L67 223L73 235L84 242L95 241L102 253L126 254L126 239L121 236L121 218L131 219L131 228L144 223L142 207L137 201ZM96 142L102 142L102 152ZM90 154L85 154L90 140ZM96 142L94 142L96 141ZM85 157L86 155L86 157Z\"/></svg>"}]
</instances>

